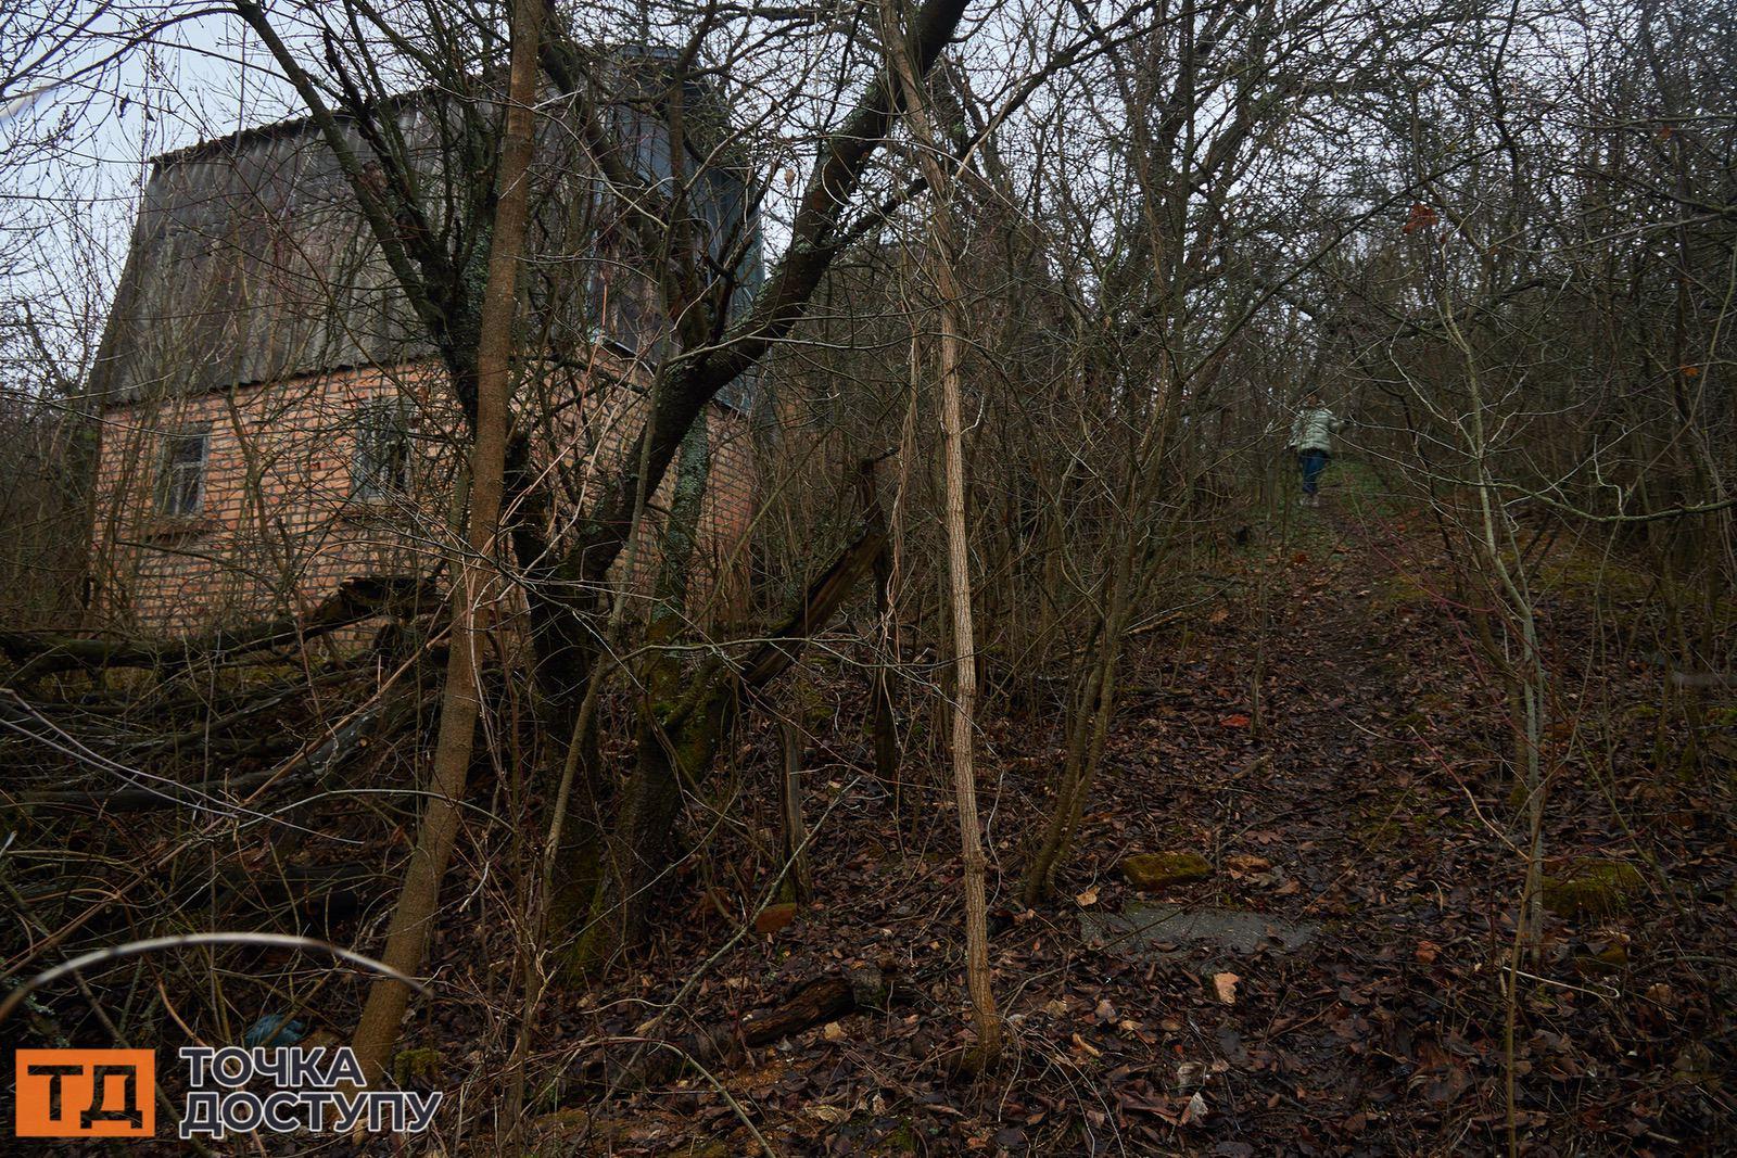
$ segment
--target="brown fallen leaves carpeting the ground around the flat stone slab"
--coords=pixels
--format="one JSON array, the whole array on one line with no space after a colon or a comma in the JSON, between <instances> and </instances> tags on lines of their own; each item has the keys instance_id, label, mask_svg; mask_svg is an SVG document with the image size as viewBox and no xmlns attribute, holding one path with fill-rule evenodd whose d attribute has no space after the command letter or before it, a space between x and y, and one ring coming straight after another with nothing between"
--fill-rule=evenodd
<instances>
[{"instance_id":1,"label":"brown fallen leaves carpeting the ground around the flat stone slab","mask_svg":"<svg viewBox=\"0 0 1737 1158\"><path fill-rule=\"evenodd\" d=\"M1407 517L1426 524L1417 512ZM1400 550L1388 540L1407 535L1407 524L1376 533L1384 549ZM1273 563L1289 556L1285 549ZM902 1068L907 1057L943 1054L961 1036L962 1017L936 1016L962 1009L957 976L928 972L954 950L935 917L955 903L957 875L943 861L919 868L893 854L900 845L891 825L874 830L881 813L872 809L886 811L879 799L844 842L851 859L827 877L827 896L848 892L851 903L834 901L832 913L806 905L771 944L743 941L747 960L731 962L709 991L723 1012L776 1000L780 988L811 976L816 957L849 951L839 946L858 934L879 941L877 950L908 953L924 976L941 976L933 990L924 986L940 1005L820 1024L766 1050L787 1059L789 1073L776 1082L731 1087L756 1101L752 1113L768 1127L790 1130L782 1153L905 1153L888 1146L895 1137L915 1139L924 1153L1087 1153L1087 1134L1124 1139L1126 1153L1252 1158L1344 1153L1353 1144L1419 1153L1449 1116L1483 1130L1470 1149L1490 1148L1503 1068L1492 1052L1499 1040L1478 1019L1497 993L1480 938L1492 899L1497 913L1511 911L1511 878L1492 872L1506 865L1504 854L1468 816L1464 792L1506 792L1483 750L1506 734L1487 727L1476 681L1443 649L1435 604L1421 594L1403 609L1386 601L1395 590L1445 590L1433 569L1405 561L1414 578L1400 585L1390 569L1364 566L1370 556L1355 543L1343 559L1325 547L1313 556L1313 571L1285 580L1289 609L1275 622L1282 634L1270 641L1259 688L1263 724L1271 724L1263 741L1251 743L1252 712L1242 707L1254 703L1247 667L1256 618L1244 604L1223 616L1225 608L1207 604L1202 618L1223 623L1209 648L1166 655L1159 670L1131 677L1138 693L1108 738L1079 854L1063 873L1063 903L1006 913L1007 931L992 943L997 997L1006 995L1023 1047L1056 1063L1047 1076L1020 1071L1001 1099L959 1109L936 1101L943 1095L935 1078ZM1310 587L1322 594L1308 595ZM1652 667L1624 670L1657 679ZM1417 727L1398 722L1409 715ZM1645 747L1652 729L1643 731ZM1046 783L1060 750L1049 733L999 743L1020 753L1006 759L1009 781L1034 802L1053 799ZM1443 759L1456 762L1464 786L1435 774ZM1716 826L1697 825L1681 792L1654 792L1641 800L1647 816L1707 856L1702 842L1721 839ZM1593 806L1574 813L1574 832L1598 814L1596 797ZM1553 842L1560 835L1553 832ZM1124 899L1129 911L1143 905L1117 884L1120 863L1143 847L1190 851L1214 870L1211 884L1146 903L1146 911L1223 905L1273 922L1313 915L1327 927L1310 953L1287 953L1271 934L1249 951L1197 951L1159 936L1157 962L1079 944L1082 920L1103 922ZM816 845L816 854L830 849ZM1685 863L1690 870L1721 894L1737 878L1723 854ZM1619 934L1641 944L1631 918L1553 941L1548 976L1572 981L1570 955L1596 953ZM1560 1097L1595 1082L1636 1092L1633 1101L1582 1097L1584 1123L1556 1118L1546 1127L1565 1139L1595 1127L1633 1127L1631 1137L1640 1137L1661 1122L1687 1122L1685 1106L1704 1113L1707 1094L1697 1082L1716 1061L1680 1045L1687 1021L1709 1009L1704 983L1694 970L1661 967L1654 955L1635 957L1621 1003L1551 986L1527 1010L1537 1030L1516 1042L1522 1095ZM1449 1009L1470 1014L1456 1021L1464 1040L1442 1028ZM1622 1054L1605 1045L1612 1016L1633 1030L1617 1038ZM867 1089L860 1068L870 1057L882 1059L874 1080L886 1106L853 1101L855 1089ZM1093 1094L1082 1097L1087 1085ZM830 1106L809 1115L809 1102ZM705 1128L733 1128L728 1108L709 1104L707 1113L716 1116Z\"/></svg>"}]
</instances>

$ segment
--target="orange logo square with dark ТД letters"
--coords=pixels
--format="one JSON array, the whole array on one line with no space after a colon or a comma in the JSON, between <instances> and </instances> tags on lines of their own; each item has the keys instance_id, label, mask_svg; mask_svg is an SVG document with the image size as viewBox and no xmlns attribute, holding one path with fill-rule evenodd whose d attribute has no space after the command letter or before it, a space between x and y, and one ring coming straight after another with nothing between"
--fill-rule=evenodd
<instances>
[{"instance_id":1,"label":"orange logo square with dark \u0422\u0414 letters","mask_svg":"<svg viewBox=\"0 0 1737 1158\"><path fill-rule=\"evenodd\" d=\"M148 1049L21 1049L17 1137L151 1137L156 1054Z\"/></svg>"}]
</instances>

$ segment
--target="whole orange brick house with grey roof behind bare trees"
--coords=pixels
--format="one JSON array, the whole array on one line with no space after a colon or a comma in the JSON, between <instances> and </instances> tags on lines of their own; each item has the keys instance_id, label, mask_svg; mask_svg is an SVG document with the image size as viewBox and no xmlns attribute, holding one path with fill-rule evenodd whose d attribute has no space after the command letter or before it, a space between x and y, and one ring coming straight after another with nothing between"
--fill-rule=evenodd
<instances>
[{"instance_id":1,"label":"whole orange brick house with grey roof behind bare trees","mask_svg":"<svg viewBox=\"0 0 1737 1158\"><path fill-rule=\"evenodd\" d=\"M406 97L394 116L420 151L417 170L439 181L450 149L429 106ZM611 123L667 179L658 118L622 111ZM540 144L535 174L525 319L535 358L521 363L516 413L558 484L558 517L571 519L637 432L667 337L582 161ZM747 172L714 163L691 188L703 245L735 262L736 313L761 260ZM306 613L353 576L434 575L455 542L452 389L309 122L153 161L92 392L94 627L181 634ZM743 589L752 392L736 382L707 413L690 568L691 609L705 618ZM655 526L627 556L636 578L651 542Z\"/></svg>"}]
</instances>

